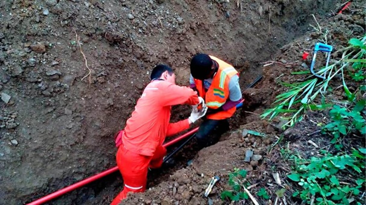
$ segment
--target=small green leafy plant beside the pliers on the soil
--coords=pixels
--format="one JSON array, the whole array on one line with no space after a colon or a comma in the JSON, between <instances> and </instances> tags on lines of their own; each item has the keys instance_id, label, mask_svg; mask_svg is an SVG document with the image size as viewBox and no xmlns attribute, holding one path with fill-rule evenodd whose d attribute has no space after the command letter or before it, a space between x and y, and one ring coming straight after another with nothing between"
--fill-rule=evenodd
<instances>
[{"instance_id":1,"label":"small green leafy plant beside the pliers on the soil","mask_svg":"<svg viewBox=\"0 0 366 205\"><path fill-rule=\"evenodd\" d=\"M245 182L246 170L234 168L234 172L229 174L228 184L232 190L225 190L221 193L221 200L229 199L231 201L239 201L248 199L249 195L245 193L243 187L247 186Z\"/></svg>"}]
</instances>

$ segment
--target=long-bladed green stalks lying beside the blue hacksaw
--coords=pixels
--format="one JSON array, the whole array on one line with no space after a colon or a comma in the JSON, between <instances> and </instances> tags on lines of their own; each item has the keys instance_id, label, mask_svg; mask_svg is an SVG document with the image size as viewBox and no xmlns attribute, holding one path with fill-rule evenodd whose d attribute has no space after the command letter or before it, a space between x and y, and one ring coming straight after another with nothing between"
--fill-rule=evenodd
<instances>
[{"instance_id":1,"label":"long-bladed green stalks lying beside the blue hacksaw","mask_svg":"<svg viewBox=\"0 0 366 205\"><path fill-rule=\"evenodd\" d=\"M349 41L350 46L338 52L343 52L340 60L321 68L317 74L326 76L325 80L313 78L299 83L282 83L284 86L290 87L290 90L277 95L275 106L261 115L262 118L275 118L279 114L283 114L288 122L284 126L292 126L296 122L302 120L306 110L321 110L331 107L331 103L325 103L324 95L329 90L329 82L335 76L341 76L344 93L350 103L354 102L360 91L365 90L364 86L360 86L356 92L352 93L345 82L344 70L352 73L354 78L361 79L362 73L366 72L366 35L361 39L352 38ZM296 72L295 74L306 74L307 72ZM312 76L309 76L312 77ZM364 77L364 76L363 76ZM321 103L315 103L317 96L322 95ZM288 116L290 115L290 116Z\"/></svg>"}]
</instances>

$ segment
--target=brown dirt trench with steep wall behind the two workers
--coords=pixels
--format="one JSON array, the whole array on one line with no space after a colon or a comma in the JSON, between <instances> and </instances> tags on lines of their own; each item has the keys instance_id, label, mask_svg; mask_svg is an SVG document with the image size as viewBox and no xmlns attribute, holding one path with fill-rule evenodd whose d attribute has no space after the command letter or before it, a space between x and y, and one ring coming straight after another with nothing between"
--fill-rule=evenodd
<instances>
[{"instance_id":1,"label":"brown dirt trench with steep wall behind the two workers","mask_svg":"<svg viewBox=\"0 0 366 205\"><path fill-rule=\"evenodd\" d=\"M310 14L326 16L332 1L3 1L0 3L1 204L30 202L115 166L113 133L122 129L157 63L188 84L197 52L240 71L244 88L261 75L259 62L304 34ZM75 32L74 30L75 29ZM90 81L75 35L91 69ZM83 79L83 80L82 80ZM246 106L265 101L259 96ZM250 104L250 103L249 103ZM172 121L186 107L173 109ZM243 111L232 127L252 121ZM202 150L209 152L209 149ZM149 186L185 167L152 176ZM120 191L119 174L49 204L104 204Z\"/></svg>"}]
</instances>

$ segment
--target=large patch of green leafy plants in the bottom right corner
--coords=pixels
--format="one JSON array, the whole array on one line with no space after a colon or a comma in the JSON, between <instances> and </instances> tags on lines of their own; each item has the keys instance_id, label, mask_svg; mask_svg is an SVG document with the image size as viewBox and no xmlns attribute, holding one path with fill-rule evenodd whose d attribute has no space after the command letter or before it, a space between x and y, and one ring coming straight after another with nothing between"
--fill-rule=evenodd
<instances>
[{"instance_id":1,"label":"large patch of green leafy plants in the bottom right corner","mask_svg":"<svg viewBox=\"0 0 366 205\"><path fill-rule=\"evenodd\" d=\"M310 160L297 160L292 174L287 175L300 185L293 196L307 204L350 204L357 202L365 179L357 178L365 168L366 149L353 149L352 154L312 157ZM350 176L350 178L342 178ZM341 180L341 182L340 182ZM348 182L343 182L348 180ZM314 201L315 200L315 201Z\"/></svg>"}]
</instances>

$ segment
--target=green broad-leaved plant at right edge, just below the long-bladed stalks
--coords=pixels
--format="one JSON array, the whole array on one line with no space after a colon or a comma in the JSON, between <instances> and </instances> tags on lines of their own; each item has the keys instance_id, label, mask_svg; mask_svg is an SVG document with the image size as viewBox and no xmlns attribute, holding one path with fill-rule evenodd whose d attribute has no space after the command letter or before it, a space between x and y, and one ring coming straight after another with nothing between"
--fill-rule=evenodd
<instances>
[{"instance_id":1,"label":"green broad-leaved plant at right edge, just below the long-bladed stalks","mask_svg":"<svg viewBox=\"0 0 366 205\"><path fill-rule=\"evenodd\" d=\"M358 130L361 134L366 134L365 119L361 116L361 111L365 107L365 100L359 100L352 111L347 111L346 107L334 105L329 115L331 121L324 126L324 130L333 134L332 143L340 137L341 134L347 135L352 130Z\"/></svg>"}]
</instances>

